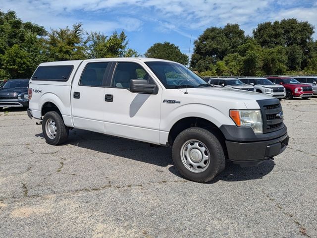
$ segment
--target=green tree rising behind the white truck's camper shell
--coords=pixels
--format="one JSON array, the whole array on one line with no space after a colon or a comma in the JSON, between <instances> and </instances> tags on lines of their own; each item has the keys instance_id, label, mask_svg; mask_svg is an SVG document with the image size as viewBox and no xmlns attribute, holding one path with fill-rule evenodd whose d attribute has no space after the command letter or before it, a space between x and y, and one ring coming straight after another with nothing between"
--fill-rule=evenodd
<instances>
[{"instance_id":1,"label":"green tree rising behind the white truck's camper shell","mask_svg":"<svg viewBox=\"0 0 317 238\"><path fill-rule=\"evenodd\" d=\"M81 23L73 24L72 29L52 29L46 44L52 61L87 59L87 40Z\"/></svg>"}]
</instances>

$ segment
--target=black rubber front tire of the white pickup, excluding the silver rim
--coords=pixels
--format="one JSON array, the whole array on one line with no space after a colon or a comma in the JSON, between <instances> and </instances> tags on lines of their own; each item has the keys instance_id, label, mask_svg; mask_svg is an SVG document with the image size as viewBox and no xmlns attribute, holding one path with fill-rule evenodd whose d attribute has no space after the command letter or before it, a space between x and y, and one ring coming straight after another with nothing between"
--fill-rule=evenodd
<instances>
[{"instance_id":1,"label":"black rubber front tire of the white pickup, excluding the silver rim","mask_svg":"<svg viewBox=\"0 0 317 238\"><path fill-rule=\"evenodd\" d=\"M209 162L207 168L199 173L192 172L185 166L181 154L183 146L190 140L201 141L207 147L209 152ZM191 181L208 182L225 168L225 154L218 138L210 131L200 128L191 127L179 133L172 146L172 158L174 165L180 174Z\"/></svg>"}]
</instances>

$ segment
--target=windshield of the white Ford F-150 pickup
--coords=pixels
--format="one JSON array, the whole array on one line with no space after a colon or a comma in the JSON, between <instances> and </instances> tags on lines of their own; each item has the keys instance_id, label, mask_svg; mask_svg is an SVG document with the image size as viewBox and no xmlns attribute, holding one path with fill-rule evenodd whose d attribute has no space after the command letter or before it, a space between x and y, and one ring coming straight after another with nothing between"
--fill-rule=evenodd
<instances>
[{"instance_id":1,"label":"windshield of the white Ford F-150 pickup","mask_svg":"<svg viewBox=\"0 0 317 238\"><path fill-rule=\"evenodd\" d=\"M149 61L145 62L159 78L166 89L211 87L202 78L186 68L173 62Z\"/></svg>"}]
</instances>

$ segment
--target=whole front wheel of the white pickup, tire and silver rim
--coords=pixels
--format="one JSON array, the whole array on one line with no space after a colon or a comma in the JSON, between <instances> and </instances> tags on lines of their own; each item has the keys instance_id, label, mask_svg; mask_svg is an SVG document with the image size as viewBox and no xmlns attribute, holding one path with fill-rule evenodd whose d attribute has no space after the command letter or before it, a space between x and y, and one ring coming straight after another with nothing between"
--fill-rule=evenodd
<instances>
[{"instance_id":1,"label":"whole front wheel of the white pickup, tire and silver rim","mask_svg":"<svg viewBox=\"0 0 317 238\"><path fill-rule=\"evenodd\" d=\"M176 137L172 157L181 175L195 182L208 182L225 167L220 141L213 133L200 127L185 129Z\"/></svg>"}]
</instances>

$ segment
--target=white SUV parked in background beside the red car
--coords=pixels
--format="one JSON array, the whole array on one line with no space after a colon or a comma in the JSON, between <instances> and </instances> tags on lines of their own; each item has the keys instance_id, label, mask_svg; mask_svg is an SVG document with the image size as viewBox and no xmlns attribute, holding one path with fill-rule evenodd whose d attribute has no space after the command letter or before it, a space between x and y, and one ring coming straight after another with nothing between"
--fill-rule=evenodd
<instances>
[{"instance_id":1,"label":"white SUV parked in background beside the red car","mask_svg":"<svg viewBox=\"0 0 317 238\"><path fill-rule=\"evenodd\" d=\"M268 96L278 99L285 98L286 90L281 85L276 85L267 78L239 78L243 83L254 86L258 93L264 93Z\"/></svg>"}]
</instances>

